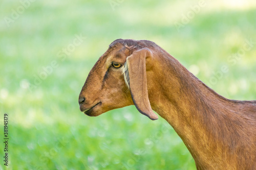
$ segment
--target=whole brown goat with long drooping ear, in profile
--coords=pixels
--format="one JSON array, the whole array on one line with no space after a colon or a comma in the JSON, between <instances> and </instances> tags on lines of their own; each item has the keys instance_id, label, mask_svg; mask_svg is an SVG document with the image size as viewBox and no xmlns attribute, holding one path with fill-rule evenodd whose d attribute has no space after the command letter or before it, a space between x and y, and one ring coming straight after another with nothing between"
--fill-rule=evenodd
<instances>
[{"instance_id":1,"label":"whole brown goat with long drooping ear, in profile","mask_svg":"<svg viewBox=\"0 0 256 170\"><path fill-rule=\"evenodd\" d=\"M256 101L228 100L147 40L113 41L79 94L89 116L135 105L174 128L197 169L256 169Z\"/></svg>"}]
</instances>

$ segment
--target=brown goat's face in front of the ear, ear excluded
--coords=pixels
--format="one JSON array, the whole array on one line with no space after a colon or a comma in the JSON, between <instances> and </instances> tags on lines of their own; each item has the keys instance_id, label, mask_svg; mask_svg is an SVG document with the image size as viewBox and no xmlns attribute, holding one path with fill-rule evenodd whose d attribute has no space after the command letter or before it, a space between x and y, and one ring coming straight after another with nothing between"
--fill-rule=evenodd
<instances>
[{"instance_id":1,"label":"brown goat's face in front of the ear, ear excluded","mask_svg":"<svg viewBox=\"0 0 256 170\"><path fill-rule=\"evenodd\" d=\"M110 47L93 66L79 95L80 110L89 116L133 104L121 68L129 51Z\"/></svg>"}]
</instances>

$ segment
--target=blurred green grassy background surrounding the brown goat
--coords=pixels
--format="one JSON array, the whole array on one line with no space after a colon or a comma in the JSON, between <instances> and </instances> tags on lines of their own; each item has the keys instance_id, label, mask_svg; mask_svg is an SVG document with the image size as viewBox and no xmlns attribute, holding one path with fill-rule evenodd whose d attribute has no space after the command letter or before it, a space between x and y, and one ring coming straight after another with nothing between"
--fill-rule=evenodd
<instances>
[{"instance_id":1,"label":"blurred green grassy background surrounding the brown goat","mask_svg":"<svg viewBox=\"0 0 256 170\"><path fill-rule=\"evenodd\" d=\"M6 167L1 130L0 169L196 169L163 118L79 111L90 69L117 38L154 41L226 98L256 100L254 1L3 0L0 11L10 138Z\"/></svg>"}]
</instances>

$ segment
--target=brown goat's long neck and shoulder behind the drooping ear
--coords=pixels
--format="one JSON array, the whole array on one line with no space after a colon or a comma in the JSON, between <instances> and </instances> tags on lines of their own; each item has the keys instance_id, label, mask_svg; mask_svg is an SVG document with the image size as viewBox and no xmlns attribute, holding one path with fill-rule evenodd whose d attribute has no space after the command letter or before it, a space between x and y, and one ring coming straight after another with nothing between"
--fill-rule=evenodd
<instances>
[{"instance_id":1,"label":"brown goat's long neck and shoulder behind the drooping ear","mask_svg":"<svg viewBox=\"0 0 256 170\"><path fill-rule=\"evenodd\" d=\"M147 70L152 109L175 129L197 168L252 168L247 160L256 160L256 102L228 100L165 51L154 55Z\"/></svg>"}]
</instances>

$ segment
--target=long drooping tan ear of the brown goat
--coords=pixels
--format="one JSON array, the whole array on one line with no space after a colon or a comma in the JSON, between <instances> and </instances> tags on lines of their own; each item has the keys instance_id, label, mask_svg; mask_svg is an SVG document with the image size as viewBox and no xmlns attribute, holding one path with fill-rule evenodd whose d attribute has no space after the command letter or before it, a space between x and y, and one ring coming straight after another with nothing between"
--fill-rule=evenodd
<instances>
[{"instance_id":1,"label":"long drooping tan ear of the brown goat","mask_svg":"<svg viewBox=\"0 0 256 170\"><path fill-rule=\"evenodd\" d=\"M153 112L147 93L146 80L146 59L152 57L152 52L148 48L133 52L126 58L126 64L129 72L130 90L133 103L138 111L152 120L158 119Z\"/></svg>"}]
</instances>

